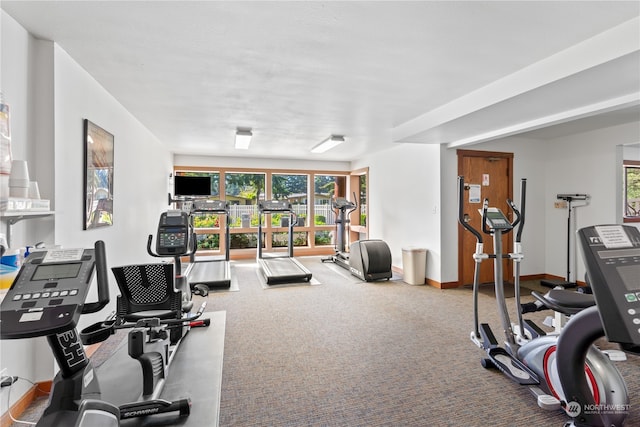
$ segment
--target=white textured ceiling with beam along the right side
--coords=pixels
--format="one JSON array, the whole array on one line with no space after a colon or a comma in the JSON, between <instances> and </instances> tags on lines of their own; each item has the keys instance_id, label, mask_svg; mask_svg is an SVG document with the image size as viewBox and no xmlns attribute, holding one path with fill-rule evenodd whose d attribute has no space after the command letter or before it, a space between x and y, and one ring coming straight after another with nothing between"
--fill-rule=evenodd
<instances>
[{"instance_id":1,"label":"white textured ceiling with beam along the right side","mask_svg":"<svg viewBox=\"0 0 640 427\"><path fill-rule=\"evenodd\" d=\"M0 5L176 153L353 160L640 122L637 1Z\"/></svg>"}]
</instances>

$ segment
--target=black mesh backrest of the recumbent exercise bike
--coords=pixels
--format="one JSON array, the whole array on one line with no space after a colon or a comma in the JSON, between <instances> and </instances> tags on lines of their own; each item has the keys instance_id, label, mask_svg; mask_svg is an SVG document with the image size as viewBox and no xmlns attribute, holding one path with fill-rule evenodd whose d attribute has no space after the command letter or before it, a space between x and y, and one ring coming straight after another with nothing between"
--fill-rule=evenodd
<instances>
[{"instance_id":1,"label":"black mesh backrest of the recumbent exercise bike","mask_svg":"<svg viewBox=\"0 0 640 427\"><path fill-rule=\"evenodd\" d=\"M111 269L120 288L117 317L176 318L182 315L182 292L174 287L173 264L137 264Z\"/></svg>"}]
</instances>

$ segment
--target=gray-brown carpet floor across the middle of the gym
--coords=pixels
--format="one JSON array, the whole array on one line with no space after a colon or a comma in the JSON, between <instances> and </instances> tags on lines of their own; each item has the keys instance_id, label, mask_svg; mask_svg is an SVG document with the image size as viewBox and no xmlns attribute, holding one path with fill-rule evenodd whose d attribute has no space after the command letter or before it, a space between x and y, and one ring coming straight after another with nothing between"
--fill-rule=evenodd
<instances>
[{"instance_id":1,"label":"gray-brown carpet floor across the middle of the gym","mask_svg":"<svg viewBox=\"0 0 640 427\"><path fill-rule=\"evenodd\" d=\"M237 261L239 291L209 295L207 310L226 311L219 425L528 427L567 420L481 367L483 352L469 340L469 289L397 278L365 283L319 258L301 261L314 284L265 288L255 263ZM498 335L495 299L480 295L479 305ZM540 324L546 315L527 316ZM625 425L640 426L640 359L616 366L631 397Z\"/></svg>"}]
</instances>

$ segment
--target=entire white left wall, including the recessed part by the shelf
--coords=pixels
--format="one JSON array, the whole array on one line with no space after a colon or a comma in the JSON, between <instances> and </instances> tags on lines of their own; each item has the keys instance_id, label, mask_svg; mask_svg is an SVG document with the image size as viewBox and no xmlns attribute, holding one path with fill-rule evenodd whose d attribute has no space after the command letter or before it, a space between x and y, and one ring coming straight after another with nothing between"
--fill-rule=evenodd
<instances>
[{"instance_id":1,"label":"entire white left wall, including the recessed part by the shelf","mask_svg":"<svg viewBox=\"0 0 640 427\"><path fill-rule=\"evenodd\" d=\"M42 240L42 235L48 243L64 247L92 247L96 240L104 240L109 266L152 260L146 254L147 236L155 233L159 215L167 208L172 155L61 48L35 40L4 12L1 19L1 88L11 106L14 158L33 164L43 198L50 198L55 207L51 220L17 224L17 244ZM114 225L86 231L82 227L84 118L115 137ZM33 226L36 221L42 224ZM111 278L110 306L84 316L79 328L102 320L115 308L116 289ZM89 300L94 296L95 289ZM54 365L43 343L44 339L0 341L0 366L8 375L51 379ZM16 383L11 404L29 387ZM4 413L4 395L1 405Z\"/></svg>"}]
</instances>

